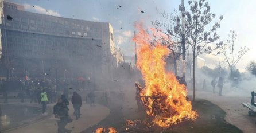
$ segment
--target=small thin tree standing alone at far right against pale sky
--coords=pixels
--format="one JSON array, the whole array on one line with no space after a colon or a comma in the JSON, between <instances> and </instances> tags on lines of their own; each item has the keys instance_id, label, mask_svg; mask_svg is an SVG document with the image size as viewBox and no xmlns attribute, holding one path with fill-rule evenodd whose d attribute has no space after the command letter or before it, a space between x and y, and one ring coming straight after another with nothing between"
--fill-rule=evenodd
<instances>
[{"instance_id":1,"label":"small thin tree standing alone at far right against pale sky","mask_svg":"<svg viewBox=\"0 0 256 133\"><path fill-rule=\"evenodd\" d=\"M235 30L230 30L230 33L228 34L227 43L222 46L222 51L225 56L226 62L228 64L228 68L230 69L231 77L234 72L236 64L238 64L239 60L241 60L241 57L245 55L245 53L247 53L249 50L249 48L246 48L246 46L244 46L244 47L241 47L236 53L235 52L236 37L237 37L237 34L235 33ZM230 79L230 87L232 87L232 79Z\"/></svg>"}]
</instances>

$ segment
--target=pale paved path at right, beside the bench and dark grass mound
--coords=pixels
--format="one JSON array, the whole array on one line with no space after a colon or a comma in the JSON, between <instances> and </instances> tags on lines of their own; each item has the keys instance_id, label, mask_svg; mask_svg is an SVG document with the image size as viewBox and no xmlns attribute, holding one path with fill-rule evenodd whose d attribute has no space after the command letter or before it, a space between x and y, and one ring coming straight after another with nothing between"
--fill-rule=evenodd
<instances>
[{"instance_id":1,"label":"pale paved path at right, beside the bench and dark grass mound","mask_svg":"<svg viewBox=\"0 0 256 133\"><path fill-rule=\"evenodd\" d=\"M196 97L211 101L218 105L227 113L225 120L228 123L235 125L243 132L252 133L256 131L256 118L248 116L249 109L242 105L242 103L250 103L250 95L248 97L218 96L216 93L197 91Z\"/></svg>"}]
</instances>

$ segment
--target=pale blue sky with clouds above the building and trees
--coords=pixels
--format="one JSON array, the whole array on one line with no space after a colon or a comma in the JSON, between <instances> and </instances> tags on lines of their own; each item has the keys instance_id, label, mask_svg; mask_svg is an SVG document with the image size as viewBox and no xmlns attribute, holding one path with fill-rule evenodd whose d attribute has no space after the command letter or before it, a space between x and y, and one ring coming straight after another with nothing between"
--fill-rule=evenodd
<instances>
[{"instance_id":1,"label":"pale blue sky with clouds above the building and trees","mask_svg":"<svg viewBox=\"0 0 256 133\"><path fill-rule=\"evenodd\" d=\"M114 28L115 45L123 49L125 55L133 55L131 37L135 30L133 24L142 19L146 24L160 19L159 13L178 9L181 0L9 0L20 3L32 12L55 15L88 21L110 22ZM256 57L256 1L254 0L208 0L211 12L217 18L223 15L218 33L223 42L230 30L236 30L238 39L236 49L247 46L250 51L242 58L237 67L245 71L245 66ZM185 0L185 6L188 0ZM33 7L34 6L34 7ZM156 10L158 9L158 11ZM46 12L46 10L48 10ZM143 11L144 13L142 13Z\"/></svg>"}]
</instances>

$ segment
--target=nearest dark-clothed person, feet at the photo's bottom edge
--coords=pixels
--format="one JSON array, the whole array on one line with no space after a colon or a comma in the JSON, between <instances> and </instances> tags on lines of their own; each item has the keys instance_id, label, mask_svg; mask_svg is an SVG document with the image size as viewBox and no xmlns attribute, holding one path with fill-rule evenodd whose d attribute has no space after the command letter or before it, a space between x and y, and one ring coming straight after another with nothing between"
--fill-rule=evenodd
<instances>
[{"instance_id":1,"label":"nearest dark-clothed person, feet at the photo's bottom edge","mask_svg":"<svg viewBox=\"0 0 256 133\"><path fill-rule=\"evenodd\" d=\"M69 118L67 105L65 105L65 103L61 98L58 99L57 104L53 107L53 114L55 114L55 118L60 119L60 121L58 122L57 132L58 133L71 132L71 130L65 129L65 126L67 126L69 122L72 122L72 119Z\"/></svg>"}]
</instances>

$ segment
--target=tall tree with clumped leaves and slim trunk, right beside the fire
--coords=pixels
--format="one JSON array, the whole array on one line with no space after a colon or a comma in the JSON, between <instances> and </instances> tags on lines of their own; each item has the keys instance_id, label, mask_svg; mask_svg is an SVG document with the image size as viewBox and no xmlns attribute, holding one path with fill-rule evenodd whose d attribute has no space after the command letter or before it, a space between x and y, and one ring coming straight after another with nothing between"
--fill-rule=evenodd
<instances>
[{"instance_id":1,"label":"tall tree with clumped leaves and slim trunk, right beside the fire","mask_svg":"<svg viewBox=\"0 0 256 133\"><path fill-rule=\"evenodd\" d=\"M219 21L215 22L214 25L208 31L205 31L205 27L215 18L215 14L210 12L210 6L205 0L192 0L188 1L189 10L185 11L185 42L191 46L192 59L193 59L193 101L195 101L195 59L200 54L212 52L219 49L222 45L222 41L217 44L213 44L219 39L219 35L216 33L216 29L220 28L220 21L222 16L219 17ZM180 9L181 10L181 9ZM179 18L180 19L180 18ZM177 18L178 20L178 18Z\"/></svg>"}]
</instances>

